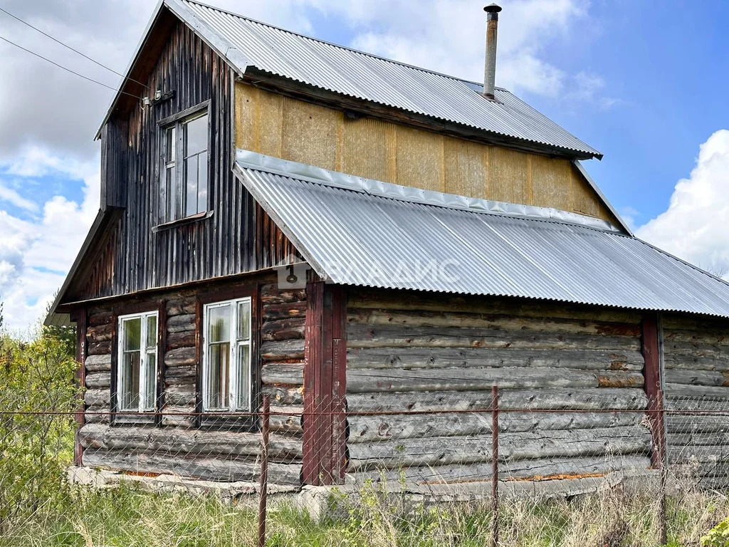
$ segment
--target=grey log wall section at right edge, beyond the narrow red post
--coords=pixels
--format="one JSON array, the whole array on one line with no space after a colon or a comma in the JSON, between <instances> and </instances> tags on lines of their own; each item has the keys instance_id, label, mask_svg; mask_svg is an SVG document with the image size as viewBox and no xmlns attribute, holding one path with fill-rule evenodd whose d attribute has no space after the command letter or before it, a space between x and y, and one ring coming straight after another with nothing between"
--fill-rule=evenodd
<instances>
[{"instance_id":1,"label":"grey log wall section at right edge, beyond the narrow red post","mask_svg":"<svg viewBox=\"0 0 729 547\"><path fill-rule=\"evenodd\" d=\"M729 413L729 322L663 318L666 408ZM709 486L729 485L729 414L666 416L668 462L687 464Z\"/></svg>"}]
</instances>

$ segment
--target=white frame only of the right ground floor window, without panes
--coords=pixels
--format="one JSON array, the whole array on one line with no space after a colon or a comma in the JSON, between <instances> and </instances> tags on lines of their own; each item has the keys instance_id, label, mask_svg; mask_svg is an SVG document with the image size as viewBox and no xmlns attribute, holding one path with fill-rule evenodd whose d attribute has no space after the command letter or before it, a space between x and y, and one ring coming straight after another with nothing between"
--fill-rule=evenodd
<instances>
[{"instance_id":1,"label":"white frame only of the right ground floor window, without panes","mask_svg":"<svg viewBox=\"0 0 729 547\"><path fill-rule=\"evenodd\" d=\"M248 305L248 314L249 314L249 322L248 322L248 338L245 340L239 340L238 339L238 320L240 319L238 317L238 305L241 303L246 303ZM228 395L228 401L230 401L231 404L227 406L227 408L222 407L210 407L208 406L208 332L210 328L210 314L208 313L209 310L214 308L219 308L222 306L228 306L230 305L231 317L230 317L230 332L229 340L230 340L230 348L228 349L228 359L230 362L230 366L228 368L228 378L227 378L227 395ZM203 306L203 335L202 335L202 341L203 341L203 381L202 381L202 387L203 392L201 394L202 402L203 402L203 411L206 412L235 412L235 411L250 411L252 408L252 398L253 398L253 375L252 375L252 323L253 323L253 306L252 306L252 299L249 296L243 297L243 298L234 298L233 300L222 300L221 302L212 302L205 304ZM240 363L238 363L238 349L241 346L248 346L248 367L246 372L246 389L248 389L248 405L243 408L239 406L233 407L233 404L238 401L238 374L240 373Z\"/></svg>"}]
</instances>

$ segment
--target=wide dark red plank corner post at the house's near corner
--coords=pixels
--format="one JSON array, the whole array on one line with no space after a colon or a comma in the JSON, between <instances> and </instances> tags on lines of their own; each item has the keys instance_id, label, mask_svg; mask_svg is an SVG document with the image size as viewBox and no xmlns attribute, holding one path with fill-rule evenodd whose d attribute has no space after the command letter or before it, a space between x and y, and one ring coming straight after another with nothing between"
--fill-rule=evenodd
<instances>
[{"instance_id":1,"label":"wide dark red plank corner post at the house's near corner","mask_svg":"<svg viewBox=\"0 0 729 547\"><path fill-rule=\"evenodd\" d=\"M339 484L346 449L346 292L306 285L303 481Z\"/></svg>"}]
</instances>

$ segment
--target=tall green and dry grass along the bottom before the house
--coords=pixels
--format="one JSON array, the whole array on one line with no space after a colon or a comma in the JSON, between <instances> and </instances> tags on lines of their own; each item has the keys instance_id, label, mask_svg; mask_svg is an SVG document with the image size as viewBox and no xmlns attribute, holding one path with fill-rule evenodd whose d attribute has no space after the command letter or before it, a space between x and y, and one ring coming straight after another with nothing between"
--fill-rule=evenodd
<instances>
[{"instance_id":1,"label":"tall green and dry grass along the bottom before the house","mask_svg":"<svg viewBox=\"0 0 729 547\"><path fill-rule=\"evenodd\" d=\"M655 547L655 500L604 492L573 500L502 504L502 545L516 547ZM729 503L690 492L671 500L668 546L698 546ZM410 505L365 489L356 505L320 522L290 505L274 506L268 546L476 547L488 545L487 505ZM135 486L74 489L54 508L12 523L0 547L230 547L254 543L256 512L212 497L154 494Z\"/></svg>"}]
</instances>

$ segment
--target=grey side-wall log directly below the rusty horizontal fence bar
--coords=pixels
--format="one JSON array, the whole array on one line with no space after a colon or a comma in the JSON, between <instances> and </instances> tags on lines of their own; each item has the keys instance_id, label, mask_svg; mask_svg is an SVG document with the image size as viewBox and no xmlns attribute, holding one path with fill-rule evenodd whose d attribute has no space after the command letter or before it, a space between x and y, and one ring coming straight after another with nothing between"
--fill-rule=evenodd
<instances>
[{"instance_id":1,"label":"grey side-wall log directly below the rusty horizontal fence bar","mask_svg":"<svg viewBox=\"0 0 729 547\"><path fill-rule=\"evenodd\" d=\"M499 430L574 430L590 427L634 427L644 418L639 412L504 412ZM483 435L491 432L491 413L391 414L352 416L348 443L370 443L391 439Z\"/></svg>"}]
</instances>

